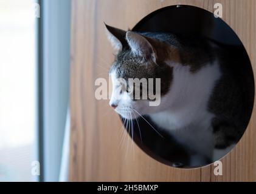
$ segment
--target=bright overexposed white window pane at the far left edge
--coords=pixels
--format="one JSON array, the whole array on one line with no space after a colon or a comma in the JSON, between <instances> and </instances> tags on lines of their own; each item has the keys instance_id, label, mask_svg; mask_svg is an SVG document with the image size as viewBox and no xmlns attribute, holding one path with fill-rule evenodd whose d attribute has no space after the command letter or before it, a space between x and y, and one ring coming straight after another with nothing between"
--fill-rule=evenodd
<instances>
[{"instance_id":1,"label":"bright overexposed white window pane at the far left edge","mask_svg":"<svg viewBox=\"0 0 256 194\"><path fill-rule=\"evenodd\" d=\"M36 181L36 22L32 0L0 0L0 181Z\"/></svg>"}]
</instances>

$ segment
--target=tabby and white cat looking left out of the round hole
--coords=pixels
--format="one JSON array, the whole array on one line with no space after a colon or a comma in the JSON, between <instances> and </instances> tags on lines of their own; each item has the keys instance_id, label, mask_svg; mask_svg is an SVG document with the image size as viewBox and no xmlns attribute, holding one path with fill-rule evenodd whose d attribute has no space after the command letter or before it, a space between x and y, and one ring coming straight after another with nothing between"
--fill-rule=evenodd
<instances>
[{"instance_id":1,"label":"tabby and white cat looking left out of the round hole","mask_svg":"<svg viewBox=\"0 0 256 194\"><path fill-rule=\"evenodd\" d=\"M122 118L147 115L189 150L190 167L216 161L235 146L254 101L253 77L244 76L251 69L240 65L249 64L246 53L200 36L132 32L109 25L106 32L116 50L109 70L109 104ZM134 99L120 87L119 78L161 78L161 104L150 107L149 99Z\"/></svg>"}]
</instances>

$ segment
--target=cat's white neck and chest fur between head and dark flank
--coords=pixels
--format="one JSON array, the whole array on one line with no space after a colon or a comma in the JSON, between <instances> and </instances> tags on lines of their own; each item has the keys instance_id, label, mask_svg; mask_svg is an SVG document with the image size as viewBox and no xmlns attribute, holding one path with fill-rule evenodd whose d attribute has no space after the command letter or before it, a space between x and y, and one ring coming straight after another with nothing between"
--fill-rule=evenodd
<instances>
[{"instance_id":1,"label":"cat's white neck and chest fur between head and dark flank","mask_svg":"<svg viewBox=\"0 0 256 194\"><path fill-rule=\"evenodd\" d=\"M173 65L171 89L161 98L162 111L149 115L178 142L207 157L213 152L210 122L214 116L208 111L208 102L220 76L217 62L196 73L189 67Z\"/></svg>"}]
</instances>

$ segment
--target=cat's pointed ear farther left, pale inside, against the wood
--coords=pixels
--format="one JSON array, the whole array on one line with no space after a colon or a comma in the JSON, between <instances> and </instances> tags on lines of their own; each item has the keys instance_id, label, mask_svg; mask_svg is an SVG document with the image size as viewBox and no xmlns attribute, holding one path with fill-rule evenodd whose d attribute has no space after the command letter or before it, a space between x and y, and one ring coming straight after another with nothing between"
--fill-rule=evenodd
<instances>
[{"instance_id":1,"label":"cat's pointed ear farther left, pale inside, against the wood","mask_svg":"<svg viewBox=\"0 0 256 194\"><path fill-rule=\"evenodd\" d=\"M125 36L126 31L120 30L118 28L112 27L110 25L106 25L106 34L108 36L109 41L112 44L112 47L116 50L116 52L119 52L122 50L123 45L126 43Z\"/></svg>"}]
</instances>

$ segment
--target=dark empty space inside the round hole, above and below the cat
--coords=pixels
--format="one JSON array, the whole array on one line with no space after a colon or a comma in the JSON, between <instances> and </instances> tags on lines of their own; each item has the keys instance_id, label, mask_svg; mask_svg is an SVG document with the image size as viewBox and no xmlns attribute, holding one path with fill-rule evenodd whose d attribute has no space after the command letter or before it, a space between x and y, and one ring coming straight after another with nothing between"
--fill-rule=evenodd
<instances>
[{"instance_id":1,"label":"dark empty space inside the round hole, above and below the cat","mask_svg":"<svg viewBox=\"0 0 256 194\"><path fill-rule=\"evenodd\" d=\"M246 87L244 91L249 93L249 101L246 102L248 109L244 112L244 114L248 115L248 124L254 103L254 78L251 62L238 36L222 19L215 18L213 13L202 8L189 5L170 6L156 10L156 12L146 16L138 22L133 28L133 31L202 36L220 42L221 44L240 47L243 52L239 53L239 57L243 58L244 64L240 67L234 67L232 65L229 65L229 67L230 71L237 69L237 72L239 70L246 72L246 74L239 74L237 76L243 76L243 79L240 79L244 80L242 83ZM230 53L230 57L233 55L235 53ZM190 168L190 156L187 149L179 144L175 140L175 137L167 133L166 130L159 129L150 118L145 116L145 119L139 118L137 119L138 121L134 121L133 134L131 134L130 130L126 129L130 136L133 136L134 142L136 142L140 149L144 150L152 158L168 166ZM153 130L152 127L161 133L162 136ZM244 130L246 130L246 127L244 127ZM209 160L205 164L202 164L202 166L206 166L212 162Z\"/></svg>"}]
</instances>

